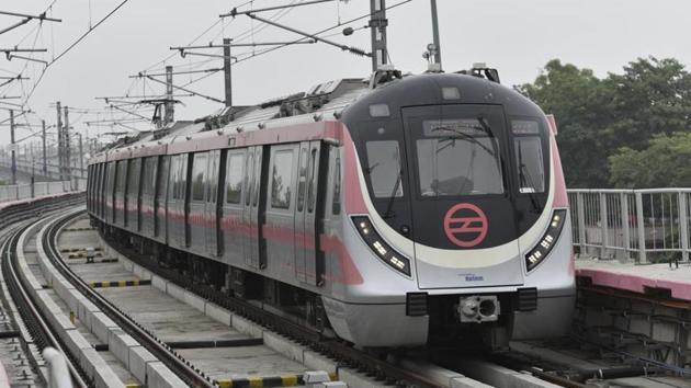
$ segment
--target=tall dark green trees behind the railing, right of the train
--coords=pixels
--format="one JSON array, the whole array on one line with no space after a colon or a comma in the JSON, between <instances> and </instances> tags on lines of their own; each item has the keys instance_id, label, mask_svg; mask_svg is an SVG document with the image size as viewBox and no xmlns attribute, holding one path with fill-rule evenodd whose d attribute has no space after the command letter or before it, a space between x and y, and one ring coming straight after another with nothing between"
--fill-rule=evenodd
<instances>
[{"instance_id":1,"label":"tall dark green trees behind the railing, right of the train","mask_svg":"<svg viewBox=\"0 0 691 388\"><path fill-rule=\"evenodd\" d=\"M556 116L569 187L637 187L649 182L631 180L659 171L657 166L634 158L635 152L648 147L656 135L691 127L691 75L676 59L638 58L625 66L622 75L602 79L591 70L554 59L533 83L517 90ZM615 155L618 158L610 158ZM610 166L615 162L616 167ZM627 178L615 179L611 176L614 172ZM665 181L666 176L659 176L656 184L669 186L672 181Z\"/></svg>"}]
</instances>

